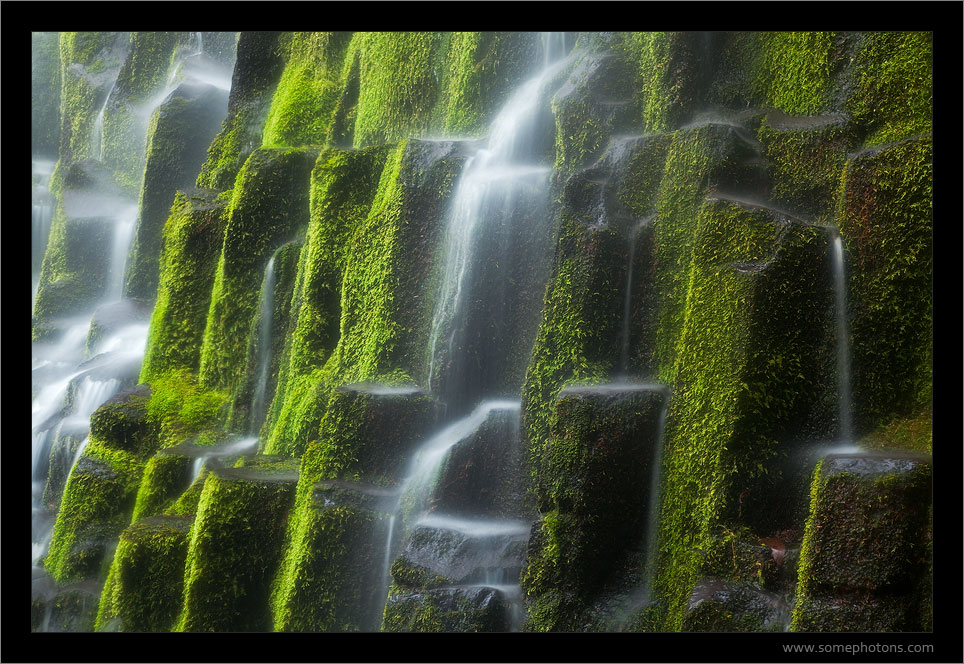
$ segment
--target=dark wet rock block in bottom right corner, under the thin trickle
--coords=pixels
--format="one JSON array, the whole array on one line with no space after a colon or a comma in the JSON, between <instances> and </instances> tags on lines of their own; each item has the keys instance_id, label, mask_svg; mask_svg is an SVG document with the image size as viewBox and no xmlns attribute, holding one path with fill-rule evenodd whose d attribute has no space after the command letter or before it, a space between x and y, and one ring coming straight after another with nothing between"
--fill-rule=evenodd
<instances>
[{"instance_id":1,"label":"dark wet rock block in bottom right corner, under the thin trickle","mask_svg":"<svg viewBox=\"0 0 964 664\"><path fill-rule=\"evenodd\" d=\"M834 454L821 461L792 628L919 630L930 495L925 455Z\"/></svg>"}]
</instances>

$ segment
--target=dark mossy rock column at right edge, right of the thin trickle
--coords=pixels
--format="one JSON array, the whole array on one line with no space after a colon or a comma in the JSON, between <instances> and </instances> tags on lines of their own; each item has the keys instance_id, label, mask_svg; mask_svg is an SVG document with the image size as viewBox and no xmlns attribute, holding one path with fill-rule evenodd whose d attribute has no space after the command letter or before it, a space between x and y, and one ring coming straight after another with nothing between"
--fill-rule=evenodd
<instances>
[{"instance_id":1,"label":"dark mossy rock column at right edge, right of the thin trickle","mask_svg":"<svg viewBox=\"0 0 964 664\"><path fill-rule=\"evenodd\" d=\"M863 152L841 176L858 435L930 405L932 149L920 138Z\"/></svg>"}]
</instances>

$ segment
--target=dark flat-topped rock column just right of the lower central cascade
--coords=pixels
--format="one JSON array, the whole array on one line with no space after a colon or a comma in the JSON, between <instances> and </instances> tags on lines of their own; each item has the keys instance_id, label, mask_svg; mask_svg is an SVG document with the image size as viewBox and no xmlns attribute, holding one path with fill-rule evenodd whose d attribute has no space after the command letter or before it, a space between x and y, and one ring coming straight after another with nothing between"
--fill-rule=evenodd
<instances>
[{"instance_id":1,"label":"dark flat-topped rock column just right of the lower central cascade","mask_svg":"<svg viewBox=\"0 0 964 664\"><path fill-rule=\"evenodd\" d=\"M663 388L646 384L560 393L537 480L542 518L522 577L527 629L576 629L593 596L645 551L665 400Z\"/></svg>"}]
</instances>

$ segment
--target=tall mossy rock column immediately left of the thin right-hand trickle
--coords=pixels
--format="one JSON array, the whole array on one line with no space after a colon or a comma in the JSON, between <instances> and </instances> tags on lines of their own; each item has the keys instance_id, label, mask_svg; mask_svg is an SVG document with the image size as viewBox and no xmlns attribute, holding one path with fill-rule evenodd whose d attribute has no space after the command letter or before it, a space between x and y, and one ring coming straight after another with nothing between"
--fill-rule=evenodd
<instances>
[{"instance_id":1,"label":"tall mossy rock column immediately left of the thin right-hand trickle","mask_svg":"<svg viewBox=\"0 0 964 664\"><path fill-rule=\"evenodd\" d=\"M673 593L696 583L719 519L788 527L799 497L778 461L836 417L829 233L723 199L697 223L664 457L659 583Z\"/></svg>"}]
</instances>

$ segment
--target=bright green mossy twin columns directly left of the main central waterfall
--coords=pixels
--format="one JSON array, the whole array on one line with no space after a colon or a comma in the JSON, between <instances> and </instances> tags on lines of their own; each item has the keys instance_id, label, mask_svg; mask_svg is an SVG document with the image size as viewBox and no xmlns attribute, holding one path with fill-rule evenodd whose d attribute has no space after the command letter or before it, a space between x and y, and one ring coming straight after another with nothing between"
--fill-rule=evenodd
<instances>
[{"instance_id":1,"label":"bright green mossy twin columns directly left of the main central waterfall","mask_svg":"<svg viewBox=\"0 0 964 664\"><path fill-rule=\"evenodd\" d=\"M340 168L341 160L329 161L338 153L327 158L326 154L319 159L315 191L327 188L347 195L313 199L313 227L293 300L300 312L285 359L287 369L283 368L272 406L276 424L265 448L271 453L298 454L304 449L316 435L335 386L364 381L412 384L412 377L425 370L430 303L427 298L408 296L427 287L442 204L451 192L460 160L450 148L436 153L431 143L395 147L378 176L367 217L352 227L352 220L359 219L356 215L365 212L364 201L372 196L371 190L342 190L352 181L341 178L352 171L329 171L332 166ZM360 167L372 177L378 173L378 155L359 153L346 167ZM319 226L314 226L314 219ZM326 228L332 222L336 225ZM314 265L320 269L313 270ZM337 309L332 306L333 295L339 292L335 288L340 291ZM340 316L337 343L328 351L335 339L335 311ZM325 352L330 352L327 359ZM323 367L318 366L322 361Z\"/></svg>"}]
</instances>

